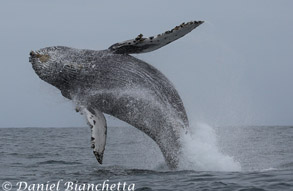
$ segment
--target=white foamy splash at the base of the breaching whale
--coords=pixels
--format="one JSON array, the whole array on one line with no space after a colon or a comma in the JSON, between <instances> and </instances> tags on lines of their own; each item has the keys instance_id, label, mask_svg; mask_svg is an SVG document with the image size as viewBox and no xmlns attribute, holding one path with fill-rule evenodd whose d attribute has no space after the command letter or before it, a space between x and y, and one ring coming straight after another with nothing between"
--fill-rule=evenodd
<instances>
[{"instance_id":1,"label":"white foamy splash at the base of the breaching whale","mask_svg":"<svg viewBox=\"0 0 293 191\"><path fill-rule=\"evenodd\" d=\"M183 153L180 168L197 171L240 171L241 165L232 156L220 151L217 134L205 123L190 125L182 135Z\"/></svg>"}]
</instances>

